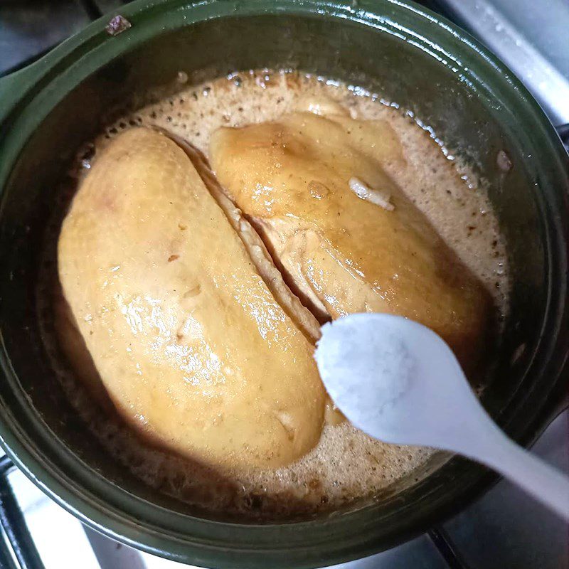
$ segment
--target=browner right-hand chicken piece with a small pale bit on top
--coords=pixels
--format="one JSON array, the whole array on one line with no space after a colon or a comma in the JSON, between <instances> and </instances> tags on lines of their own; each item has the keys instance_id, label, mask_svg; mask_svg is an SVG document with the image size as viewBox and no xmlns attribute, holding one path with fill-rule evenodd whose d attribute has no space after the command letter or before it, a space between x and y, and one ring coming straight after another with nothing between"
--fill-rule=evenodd
<instances>
[{"instance_id":1,"label":"browner right-hand chicken piece with a small pale bit on top","mask_svg":"<svg viewBox=\"0 0 569 569\"><path fill-rule=\"evenodd\" d=\"M404 164L387 122L314 102L277 122L221 128L211 164L286 280L320 320L387 312L437 331L473 368L491 301L385 174Z\"/></svg>"}]
</instances>

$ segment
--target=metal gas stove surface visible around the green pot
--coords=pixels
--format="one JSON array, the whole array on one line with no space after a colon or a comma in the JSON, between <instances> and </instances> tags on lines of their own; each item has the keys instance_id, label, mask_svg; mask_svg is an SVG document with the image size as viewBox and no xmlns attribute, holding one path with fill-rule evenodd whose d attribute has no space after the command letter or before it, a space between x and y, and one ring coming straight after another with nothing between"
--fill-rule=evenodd
<instances>
[{"instance_id":1,"label":"metal gas stove surface visible around the green pot","mask_svg":"<svg viewBox=\"0 0 569 569\"><path fill-rule=\"evenodd\" d=\"M120 0L2 0L0 75L11 73ZM499 55L569 140L567 0L425 0ZM110 16L108 16L110 18ZM533 452L569 474L569 413L543 432ZM188 567L102 536L55 504L0 457L0 569L174 569ZM569 528L508 482L413 541L336 569L569 568Z\"/></svg>"}]
</instances>

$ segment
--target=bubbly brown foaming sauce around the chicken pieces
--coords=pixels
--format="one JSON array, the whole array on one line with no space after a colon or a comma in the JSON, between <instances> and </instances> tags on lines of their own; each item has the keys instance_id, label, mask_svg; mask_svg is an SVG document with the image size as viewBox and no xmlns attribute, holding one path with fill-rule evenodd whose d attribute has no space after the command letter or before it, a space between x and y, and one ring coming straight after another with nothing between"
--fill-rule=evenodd
<instances>
[{"instance_id":1,"label":"bubbly brown foaming sauce around the chicken pieces","mask_svg":"<svg viewBox=\"0 0 569 569\"><path fill-rule=\"evenodd\" d=\"M435 144L415 118L383 104L378 95L364 90L285 71L233 73L188 87L175 97L166 97L122 117L93 141L94 154L81 153L78 163L86 171L92 155L96 159L97 152L117 132L139 125L167 129L207 155L211 133L218 127L273 120L298 108L301 97L321 95L346 107L353 117L390 123L403 145L406 165L401 168L385 164L385 171L482 280L499 314L504 314L509 289L506 247L486 191L466 166L449 159L448 153ZM48 315L41 322L44 339L68 397L117 462L166 494L240 519L280 519L334 511L381 493L398 479L408 477L413 482L418 476L416 469L425 464L432 451L386 445L347 423L326 425L317 447L288 467L221 477L203 465L148 447L114 415L101 413L62 360L53 317L49 317L53 314L49 307L56 289L55 243L75 187L76 181L63 184L60 192L60 212L50 227L46 245L38 312Z\"/></svg>"}]
</instances>

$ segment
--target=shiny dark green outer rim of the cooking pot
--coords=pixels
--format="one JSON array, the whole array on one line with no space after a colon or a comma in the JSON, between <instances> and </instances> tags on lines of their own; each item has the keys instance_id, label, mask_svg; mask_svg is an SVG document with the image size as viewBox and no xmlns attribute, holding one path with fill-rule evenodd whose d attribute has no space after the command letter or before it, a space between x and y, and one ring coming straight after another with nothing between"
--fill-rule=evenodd
<instances>
[{"instance_id":1,"label":"shiny dark green outer rim of the cooking pot","mask_svg":"<svg viewBox=\"0 0 569 569\"><path fill-rule=\"evenodd\" d=\"M124 6L120 14L132 21L133 27L119 36L108 36L105 32L108 17L101 18L63 42L38 63L14 74L14 78L3 80L4 85L0 85L0 129L6 136L0 139L0 156L4 157L0 161L0 187L9 178L11 165L27 142L27 139L16 140L16 137L12 140L11 129L22 128L28 134L33 132L33 125L25 124L25 117L21 116L28 106L43 105L42 112L34 115L36 124L39 124L55 102L73 90L80 80L117 55L134 49L159 33L205 19L232 16L284 14L340 18L413 41L416 47L437 58L441 65L461 72L479 96L489 99L505 97L523 110L524 121L532 133L533 146L538 148L533 161L536 169L543 172L544 187L549 191L549 195L538 196L541 215L552 228L546 238L549 272L550 275L566 275L568 230L563 214L569 208L566 190L555 192L552 189L569 188L565 150L551 123L519 80L489 50L445 18L411 1L400 0L361 0L357 7L352 6L351 0L281 0L278 3L274 0L206 0L193 5L187 0L137 0ZM428 37L415 31L413 26L418 28L419 24L428 29ZM433 37L435 41L431 40ZM492 85L486 81L487 78L493 80ZM54 84L55 88L48 88ZM519 442L527 443L536 435L564 393L561 376L565 371L568 339L560 339L560 331L566 326L568 315L565 302L567 282L566 277L563 278L563 282L557 282L555 287L549 278L548 306L544 317L548 334L555 339L551 346L543 348L540 358L543 373L551 374L551 388L526 429L515 433ZM551 363L553 360L555 363ZM406 506L405 523L398 521L391 526L389 509L380 519L373 511L374 506L327 519L297 523L245 525L198 519L151 504L115 486L63 447L53 432L50 436L43 435L41 440L45 446L39 451L36 441L40 440L41 430L48 430L48 427L40 418L31 418L36 430L34 435L37 435L32 439L18 424L13 410L31 414L25 408L31 405L11 368L4 342L0 364L6 382L11 385L8 395L0 392L0 445L16 466L48 496L88 526L129 546L179 562L218 568L293 565L311 568L341 563L376 553L422 533L432 523L461 509L496 479L484 468L469 464L469 475L462 476L464 486L460 490L439 491L437 496L431 494L425 510L421 507L422 500L425 500L425 496L421 496L422 483L418 483L413 487L413 507ZM18 390L19 397L14 395ZM48 447L58 454L58 467L46 456L44 449ZM457 472L466 468L464 459L456 458L451 462ZM356 515L359 518L363 516L363 521L357 524L357 531L350 528L350 521ZM385 527L380 531L378 526L382 525ZM212 534L216 537L212 538Z\"/></svg>"}]
</instances>

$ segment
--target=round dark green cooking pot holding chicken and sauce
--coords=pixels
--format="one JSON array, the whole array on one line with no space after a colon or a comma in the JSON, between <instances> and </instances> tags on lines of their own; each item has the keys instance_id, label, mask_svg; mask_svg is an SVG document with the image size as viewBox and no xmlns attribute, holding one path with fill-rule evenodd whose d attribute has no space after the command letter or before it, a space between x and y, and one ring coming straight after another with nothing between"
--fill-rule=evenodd
<instances>
[{"instance_id":1,"label":"round dark green cooking pot holding chicken and sauce","mask_svg":"<svg viewBox=\"0 0 569 569\"><path fill-rule=\"evenodd\" d=\"M398 0L140 0L112 37L97 21L0 82L0 437L17 466L87 525L130 546L208 567L308 568L408 540L493 480L439 459L372 501L287 523L213 519L139 482L87 430L38 329L41 243L55 186L111 110L171 83L298 68L412 111L489 184L509 243L511 313L482 402L527 445L558 408L569 347L568 157L511 72L451 23ZM505 151L512 168L496 156ZM437 460L435 458L435 460Z\"/></svg>"}]
</instances>

